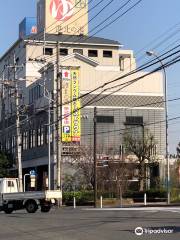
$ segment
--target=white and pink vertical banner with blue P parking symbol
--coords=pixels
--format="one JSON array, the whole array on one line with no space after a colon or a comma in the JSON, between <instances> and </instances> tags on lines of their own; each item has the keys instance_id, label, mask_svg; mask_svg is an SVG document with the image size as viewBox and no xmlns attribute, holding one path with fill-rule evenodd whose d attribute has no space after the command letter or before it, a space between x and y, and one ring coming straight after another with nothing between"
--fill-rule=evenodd
<instances>
[{"instance_id":1,"label":"white and pink vertical banner with blue P parking symbol","mask_svg":"<svg viewBox=\"0 0 180 240\"><path fill-rule=\"evenodd\" d=\"M71 142L71 72L62 70L62 142Z\"/></svg>"}]
</instances>

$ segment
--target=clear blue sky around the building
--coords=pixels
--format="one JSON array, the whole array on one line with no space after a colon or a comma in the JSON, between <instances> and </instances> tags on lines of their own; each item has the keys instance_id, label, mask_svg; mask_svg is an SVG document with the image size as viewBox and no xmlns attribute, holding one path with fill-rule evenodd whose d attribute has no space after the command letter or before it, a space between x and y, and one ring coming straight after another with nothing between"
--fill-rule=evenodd
<instances>
[{"instance_id":1,"label":"clear blue sky around the building","mask_svg":"<svg viewBox=\"0 0 180 240\"><path fill-rule=\"evenodd\" d=\"M90 0L89 0L90 1ZM91 0L90 7L97 1ZM113 11L127 0L111 0L111 4L102 14L90 23L90 30L100 21L104 20ZM138 0L131 0L131 4ZM0 8L0 56L18 38L18 24L25 17L36 16L37 0L6 0ZM109 0L104 0L99 8L92 10L92 18ZM119 18L108 28L97 33L96 36L119 41L124 49L132 49L137 57L137 64L149 58L146 50L153 50L157 54L173 47L180 42L180 1L179 0L142 0L139 5ZM121 11L122 13L122 11ZM118 12L117 15L120 13ZM114 15L115 17L116 15ZM109 18L109 20L111 20ZM143 50L142 50L143 49ZM139 52L139 50L142 50ZM168 99L180 97L180 63L167 69ZM169 118L180 116L180 101L168 103ZM169 122L168 142L170 152L175 153L177 143L180 141L180 120Z\"/></svg>"}]
</instances>

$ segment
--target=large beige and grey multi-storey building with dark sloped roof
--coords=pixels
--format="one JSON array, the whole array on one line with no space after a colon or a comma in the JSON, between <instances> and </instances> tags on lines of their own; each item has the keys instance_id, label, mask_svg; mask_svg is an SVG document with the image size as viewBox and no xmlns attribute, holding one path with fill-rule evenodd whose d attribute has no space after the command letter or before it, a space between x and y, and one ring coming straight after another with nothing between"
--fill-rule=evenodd
<instances>
[{"instance_id":1,"label":"large beige and grey multi-storey building with dark sloped roof","mask_svg":"<svg viewBox=\"0 0 180 240\"><path fill-rule=\"evenodd\" d=\"M46 2L46 8L40 7L43 2ZM47 11L49 6L52 11L51 1L39 1L38 4L38 9ZM44 22L42 26L47 28L47 24ZM42 26L38 25L39 33L18 39L0 59L0 72L5 83L7 81L0 106L2 148L13 155L16 153L16 90L13 84L17 80L24 173L33 168L39 179L47 175L50 98L52 169L56 169L56 142L63 142L62 162L68 162L77 154L75 151L79 145L92 149L96 107L97 153L118 156L123 145L123 130L127 126L147 128L155 136L157 146L153 154L161 159L161 175L164 176L162 74L136 72L133 51L123 50L122 45L114 40L86 36L87 29L84 35L82 32L72 35L71 32L64 33L62 28L62 31L57 30L58 25L57 32L43 34ZM133 71L133 74L128 74ZM134 79L137 81L132 81ZM57 81L62 82L59 89L62 116L59 119L55 106ZM62 131L61 139L55 134L57 123ZM62 164L62 169L68 172L65 164L64 167ZM55 172L52 170L54 181Z\"/></svg>"}]
</instances>

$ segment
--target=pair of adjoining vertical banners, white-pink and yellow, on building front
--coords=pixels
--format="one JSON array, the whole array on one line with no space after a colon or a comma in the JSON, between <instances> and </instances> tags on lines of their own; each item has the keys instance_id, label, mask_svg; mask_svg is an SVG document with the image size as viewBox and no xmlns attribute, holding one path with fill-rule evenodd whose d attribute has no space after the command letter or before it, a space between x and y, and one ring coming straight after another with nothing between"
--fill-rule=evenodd
<instances>
[{"instance_id":1,"label":"pair of adjoining vertical banners, white-pink and yellow, on building front","mask_svg":"<svg viewBox=\"0 0 180 240\"><path fill-rule=\"evenodd\" d=\"M62 70L62 103L62 142L80 142L81 104L78 69Z\"/></svg>"}]
</instances>

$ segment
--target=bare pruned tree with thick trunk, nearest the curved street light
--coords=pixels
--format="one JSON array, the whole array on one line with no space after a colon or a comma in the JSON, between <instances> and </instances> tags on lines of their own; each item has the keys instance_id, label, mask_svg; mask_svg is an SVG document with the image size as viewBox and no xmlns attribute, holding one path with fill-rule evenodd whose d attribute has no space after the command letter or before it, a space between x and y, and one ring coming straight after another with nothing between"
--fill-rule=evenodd
<instances>
[{"instance_id":1,"label":"bare pruned tree with thick trunk, nearest the curved street light","mask_svg":"<svg viewBox=\"0 0 180 240\"><path fill-rule=\"evenodd\" d=\"M137 134L137 132L135 133L127 129L123 141L126 154L133 154L136 156L139 170L139 191L144 191L147 177L146 163L150 164L156 160L156 154L153 154L154 149L156 149L156 141L148 129L145 130L144 126L141 126L141 129L141 134L139 134L139 132Z\"/></svg>"}]
</instances>

